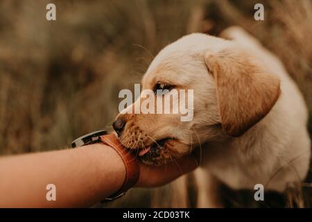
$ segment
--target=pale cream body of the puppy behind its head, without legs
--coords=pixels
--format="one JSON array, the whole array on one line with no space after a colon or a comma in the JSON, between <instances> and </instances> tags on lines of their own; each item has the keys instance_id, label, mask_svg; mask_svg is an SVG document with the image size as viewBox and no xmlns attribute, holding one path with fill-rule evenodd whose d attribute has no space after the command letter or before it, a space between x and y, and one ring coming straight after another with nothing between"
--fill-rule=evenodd
<instances>
[{"instance_id":1,"label":"pale cream body of the puppy behind its head, without legs","mask_svg":"<svg viewBox=\"0 0 312 222\"><path fill-rule=\"evenodd\" d=\"M234 42L252 51L281 80L281 94L270 112L241 137L227 142L208 142L205 169L233 189L283 191L286 185L306 176L311 157L306 130L308 112L297 86L272 53L239 28L228 29Z\"/></svg>"}]
</instances>

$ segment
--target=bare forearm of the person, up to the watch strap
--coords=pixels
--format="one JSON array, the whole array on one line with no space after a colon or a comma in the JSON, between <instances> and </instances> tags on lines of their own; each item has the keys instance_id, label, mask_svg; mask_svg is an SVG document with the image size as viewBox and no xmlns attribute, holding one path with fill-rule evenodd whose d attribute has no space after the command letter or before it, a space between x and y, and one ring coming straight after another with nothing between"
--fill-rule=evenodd
<instances>
[{"instance_id":1,"label":"bare forearm of the person, up to the watch strap","mask_svg":"<svg viewBox=\"0 0 312 222\"><path fill-rule=\"evenodd\" d=\"M113 148L93 144L0 158L0 207L90 207L117 191L125 166ZM56 200L46 200L46 185Z\"/></svg>"}]
</instances>

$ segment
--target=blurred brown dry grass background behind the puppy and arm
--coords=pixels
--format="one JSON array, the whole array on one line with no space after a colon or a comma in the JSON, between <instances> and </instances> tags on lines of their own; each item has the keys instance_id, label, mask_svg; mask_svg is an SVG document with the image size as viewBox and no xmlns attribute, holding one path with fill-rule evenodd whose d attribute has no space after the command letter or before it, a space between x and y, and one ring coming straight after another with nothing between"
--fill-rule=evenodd
<instances>
[{"instance_id":1,"label":"blurred brown dry grass background behind the puppy and arm","mask_svg":"<svg viewBox=\"0 0 312 222\"><path fill-rule=\"evenodd\" d=\"M57 21L46 21L47 3L55 3ZM263 3L264 21L254 20L255 3ZM311 22L311 0L0 1L0 155L67 148L110 129L119 90L133 89L160 49L232 25L281 58L311 116ZM311 206L311 174L295 206ZM149 191L131 193L114 205L150 205Z\"/></svg>"}]
</instances>

